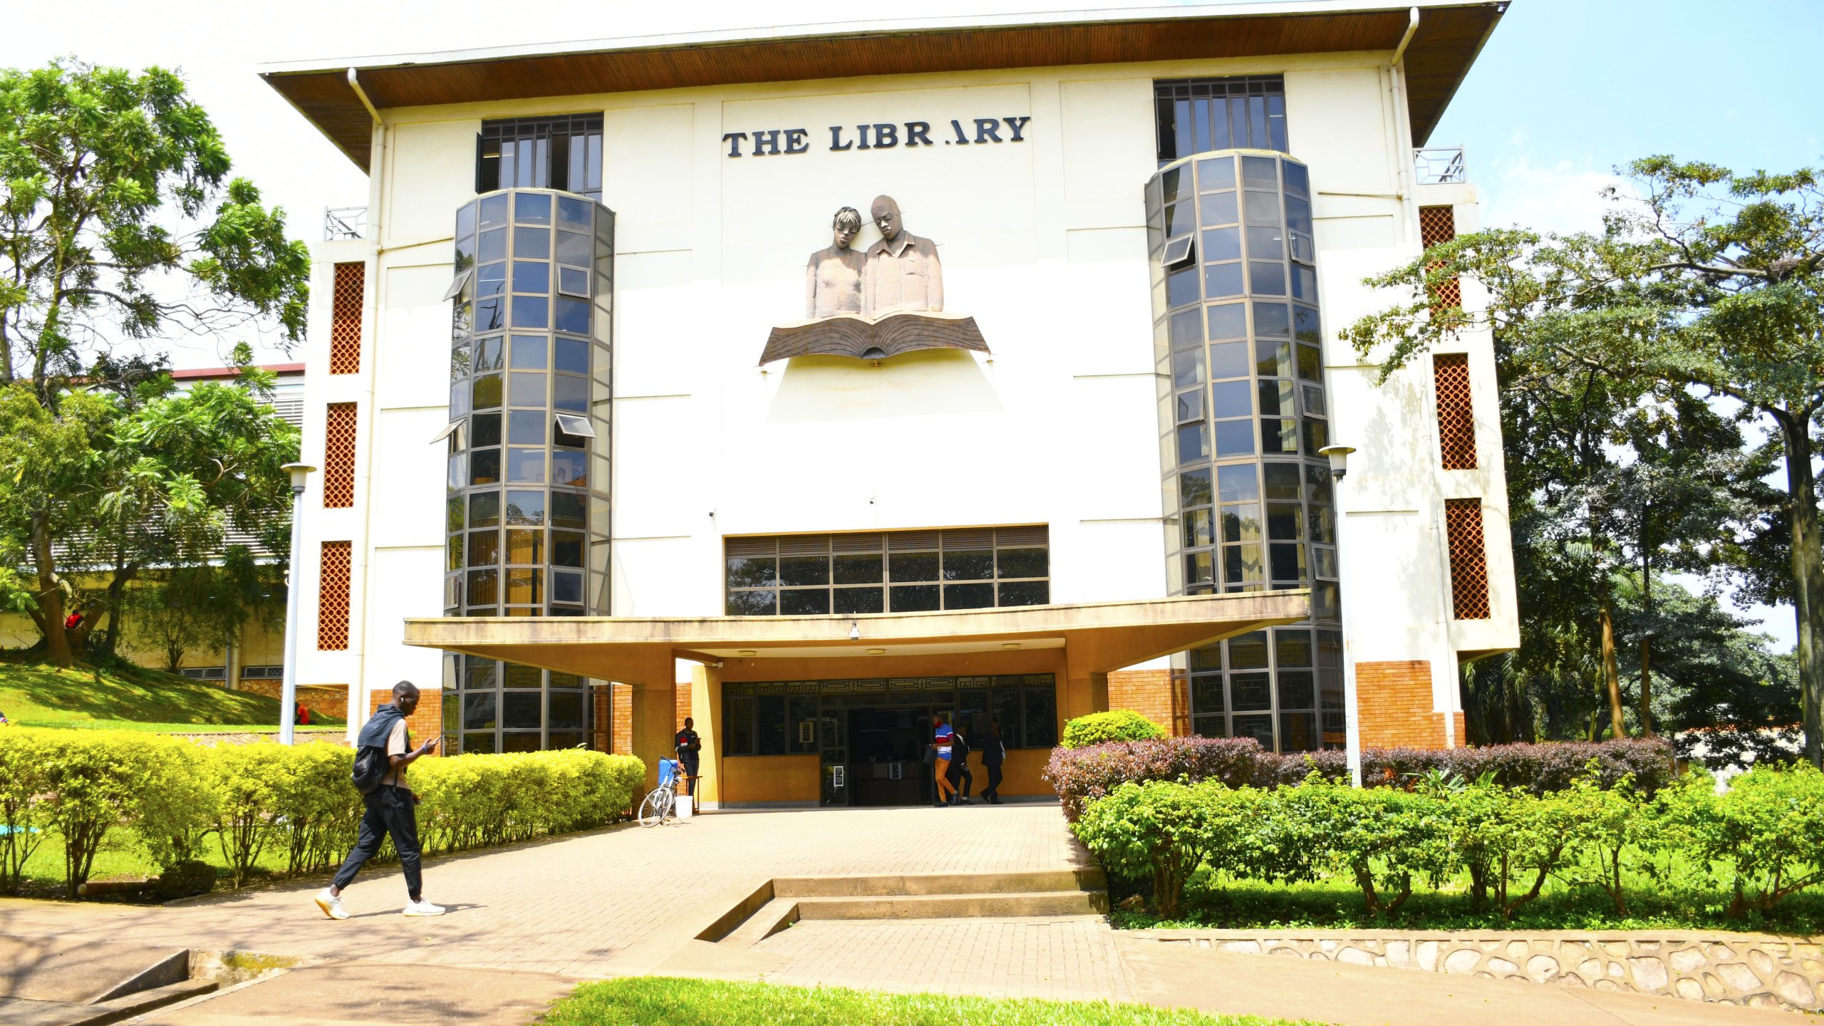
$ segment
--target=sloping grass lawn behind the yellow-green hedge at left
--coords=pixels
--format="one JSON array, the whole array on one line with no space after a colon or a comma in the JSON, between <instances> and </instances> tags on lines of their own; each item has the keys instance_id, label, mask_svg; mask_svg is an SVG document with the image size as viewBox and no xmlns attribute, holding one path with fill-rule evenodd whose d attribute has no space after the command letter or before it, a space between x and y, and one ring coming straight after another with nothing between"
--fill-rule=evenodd
<instances>
[{"instance_id":1,"label":"sloping grass lawn behind the yellow-green hedge at left","mask_svg":"<svg viewBox=\"0 0 1824 1026\"><path fill-rule=\"evenodd\" d=\"M279 701L122 665L62 670L0 657L0 712L20 727L95 730L279 728ZM316 717L312 723L341 725Z\"/></svg>"}]
</instances>

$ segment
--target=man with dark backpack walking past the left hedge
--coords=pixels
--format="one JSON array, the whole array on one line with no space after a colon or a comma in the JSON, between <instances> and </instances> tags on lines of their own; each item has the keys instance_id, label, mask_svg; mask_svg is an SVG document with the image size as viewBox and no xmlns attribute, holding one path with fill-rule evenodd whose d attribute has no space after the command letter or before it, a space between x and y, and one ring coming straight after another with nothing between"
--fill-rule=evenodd
<instances>
[{"instance_id":1,"label":"man with dark backpack walking past the left hedge","mask_svg":"<svg viewBox=\"0 0 1824 1026\"><path fill-rule=\"evenodd\" d=\"M374 853L379 851L387 834L392 834L392 849L399 853L399 869L405 871L405 915L440 916L443 906L425 900L423 874L420 873L421 849L418 847L418 796L405 787L405 767L436 750L440 738L410 749L410 734L405 717L418 708L418 685L399 681L392 685L392 705L374 710L372 719L361 728L356 752L368 747L383 747L387 763L392 767L379 778L379 787L361 796L367 814L361 816L361 832L356 834L354 849L336 871L336 880L317 893L317 907L330 918L348 918L341 906L343 887L354 882L354 874Z\"/></svg>"}]
</instances>

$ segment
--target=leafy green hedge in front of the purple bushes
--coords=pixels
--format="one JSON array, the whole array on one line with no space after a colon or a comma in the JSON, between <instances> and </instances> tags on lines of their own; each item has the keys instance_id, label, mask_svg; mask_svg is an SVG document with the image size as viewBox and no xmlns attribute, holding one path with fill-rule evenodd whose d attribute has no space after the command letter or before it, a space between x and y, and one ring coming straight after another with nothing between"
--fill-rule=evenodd
<instances>
[{"instance_id":1,"label":"leafy green hedge in front of the purple bushes","mask_svg":"<svg viewBox=\"0 0 1824 1026\"><path fill-rule=\"evenodd\" d=\"M1151 880L1155 911L1178 916L1197 869L1233 880L1350 880L1364 907L1392 916L1415 887L1468 876L1476 911L1512 918L1549 878L1591 887L1627 915L1623 878L1671 856L1707 867L1729 915L1769 913L1824 884L1824 774L1760 767L1716 794L1691 772L1653 796L1631 780L1603 787L1598 767L1565 790L1530 794L1487 778L1432 778L1419 789L1353 789L1313 774L1297 787L1122 783L1073 823L1118 878Z\"/></svg>"}]
</instances>

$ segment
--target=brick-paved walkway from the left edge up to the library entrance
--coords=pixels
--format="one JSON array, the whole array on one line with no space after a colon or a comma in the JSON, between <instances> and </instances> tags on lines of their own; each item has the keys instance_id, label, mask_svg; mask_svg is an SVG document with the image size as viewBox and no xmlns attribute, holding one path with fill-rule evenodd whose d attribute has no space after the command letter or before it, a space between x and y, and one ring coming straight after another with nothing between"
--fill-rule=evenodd
<instances>
[{"instance_id":1,"label":"brick-paved walkway from the left edge up to the library entrance","mask_svg":"<svg viewBox=\"0 0 1824 1026\"><path fill-rule=\"evenodd\" d=\"M343 895L348 922L310 904L325 885L316 878L173 907L0 900L0 933L602 977L617 955L746 882L1078 865L1087 856L1056 805L717 812L430 860L425 896L451 909L441 918L399 916L398 867L374 867Z\"/></svg>"}]
</instances>

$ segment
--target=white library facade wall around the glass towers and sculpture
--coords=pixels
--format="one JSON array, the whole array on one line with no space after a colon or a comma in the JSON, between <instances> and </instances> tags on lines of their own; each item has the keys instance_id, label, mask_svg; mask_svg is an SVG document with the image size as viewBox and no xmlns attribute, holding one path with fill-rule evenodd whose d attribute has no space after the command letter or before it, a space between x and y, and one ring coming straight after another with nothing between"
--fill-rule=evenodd
<instances>
[{"instance_id":1,"label":"white library facade wall around the glass towers and sculpture","mask_svg":"<svg viewBox=\"0 0 1824 1026\"><path fill-rule=\"evenodd\" d=\"M1390 51L1096 64L565 95L379 110L368 239L316 250L305 460L326 403L358 403L356 498L305 497L301 685L434 683L440 655L403 619L443 613L443 460L452 221L474 195L476 135L502 117L604 115L602 203L617 212L613 613L722 615L731 535L1047 524L1052 602L1167 592L1158 378L1142 188L1158 166L1156 79L1284 75L1290 153L1311 172L1332 440L1341 484L1346 659L1426 661L1454 712L1459 654L1518 641L1487 336L1470 356L1476 471L1439 469L1430 361L1375 385L1335 329L1390 298L1363 277L1419 252L1417 208L1476 225L1470 186L1417 186ZM950 120L1029 119L1018 142L956 144ZM934 144L830 150L830 126L928 122ZM753 157L751 133L808 130L808 152ZM730 133L750 133L730 157ZM945 144L941 141L948 139ZM810 252L839 206L899 201L943 259L945 309L992 354L881 365L755 361L803 316ZM872 225L855 241L877 239ZM359 372L328 374L336 263L367 263ZM1474 292L1474 288L1468 288ZM1485 509L1490 617L1450 608L1445 498ZM308 555L352 542L348 648L317 650ZM1445 716L1450 721L1448 716ZM1450 730L1450 728L1446 728ZM1452 736L1450 741L1463 743Z\"/></svg>"}]
</instances>

